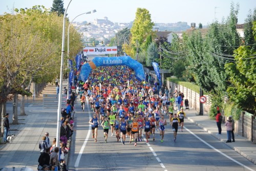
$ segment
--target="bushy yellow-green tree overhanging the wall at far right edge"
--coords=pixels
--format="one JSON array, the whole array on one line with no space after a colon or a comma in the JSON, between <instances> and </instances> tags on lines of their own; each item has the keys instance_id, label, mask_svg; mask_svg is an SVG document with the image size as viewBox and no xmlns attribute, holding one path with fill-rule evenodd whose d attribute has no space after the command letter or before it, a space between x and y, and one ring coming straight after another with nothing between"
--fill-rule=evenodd
<instances>
[{"instance_id":1,"label":"bushy yellow-green tree overhanging the wall at far right edge","mask_svg":"<svg viewBox=\"0 0 256 171\"><path fill-rule=\"evenodd\" d=\"M254 28L255 29L255 28ZM230 100L238 107L255 114L256 110L256 60L250 46L240 46L234 51L235 63L227 63L226 71L232 86L227 88Z\"/></svg>"}]
</instances>

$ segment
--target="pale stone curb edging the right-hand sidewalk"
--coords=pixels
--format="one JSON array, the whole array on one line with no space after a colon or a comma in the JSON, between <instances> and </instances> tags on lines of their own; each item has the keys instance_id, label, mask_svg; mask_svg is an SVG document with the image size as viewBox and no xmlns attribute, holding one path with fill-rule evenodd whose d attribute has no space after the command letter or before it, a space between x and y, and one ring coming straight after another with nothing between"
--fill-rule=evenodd
<instances>
[{"instance_id":1,"label":"pale stone curb edging the right-hand sidewalk","mask_svg":"<svg viewBox=\"0 0 256 171\"><path fill-rule=\"evenodd\" d=\"M230 145L229 143L226 143L225 139L222 139L219 136L216 136L215 133L209 131L207 128L203 127L201 124L197 123L196 121L194 121L193 119L191 119L190 117L186 117L187 119L189 119L191 122L195 123L198 127L202 128L203 130L205 130L206 132L208 132L209 134L211 134L212 136L214 136L215 138L219 139L220 141L222 141L223 143L225 143L227 146L229 146L231 149L233 149L234 151L236 151L237 153L239 153L240 155L242 155L243 157L245 157L247 160L249 160L250 162L252 162L253 164L256 164L256 160L252 159L250 156L248 156L247 154L243 153L241 150L239 150L238 148Z\"/></svg>"}]
</instances>

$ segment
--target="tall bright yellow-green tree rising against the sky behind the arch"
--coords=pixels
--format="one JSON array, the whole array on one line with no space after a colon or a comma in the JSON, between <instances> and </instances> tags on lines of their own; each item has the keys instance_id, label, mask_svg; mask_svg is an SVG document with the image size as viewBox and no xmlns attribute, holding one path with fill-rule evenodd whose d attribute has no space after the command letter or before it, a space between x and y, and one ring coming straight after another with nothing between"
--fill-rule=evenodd
<instances>
[{"instance_id":1,"label":"tall bright yellow-green tree rising against the sky behind the arch","mask_svg":"<svg viewBox=\"0 0 256 171\"><path fill-rule=\"evenodd\" d=\"M142 44L147 35L152 34L154 22L151 20L150 12L145 8L137 8L135 20L131 28L132 44Z\"/></svg>"}]
</instances>

